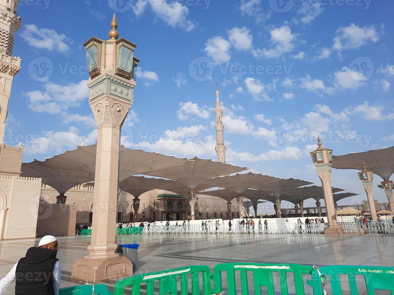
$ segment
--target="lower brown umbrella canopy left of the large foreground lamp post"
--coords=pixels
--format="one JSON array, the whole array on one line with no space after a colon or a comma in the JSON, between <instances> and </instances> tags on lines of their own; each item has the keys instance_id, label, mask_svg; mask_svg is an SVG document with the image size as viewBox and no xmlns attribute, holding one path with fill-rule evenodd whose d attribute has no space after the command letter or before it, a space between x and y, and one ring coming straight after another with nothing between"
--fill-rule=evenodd
<instances>
[{"instance_id":1,"label":"lower brown umbrella canopy left of the large foreground lamp post","mask_svg":"<svg viewBox=\"0 0 394 295\"><path fill-rule=\"evenodd\" d=\"M42 178L42 183L45 183L59 194L65 194L70 188L95 180L95 174L84 171L65 170L57 168L49 168L32 163L22 164L22 177L36 177Z\"/></svg>"}]
</instances>

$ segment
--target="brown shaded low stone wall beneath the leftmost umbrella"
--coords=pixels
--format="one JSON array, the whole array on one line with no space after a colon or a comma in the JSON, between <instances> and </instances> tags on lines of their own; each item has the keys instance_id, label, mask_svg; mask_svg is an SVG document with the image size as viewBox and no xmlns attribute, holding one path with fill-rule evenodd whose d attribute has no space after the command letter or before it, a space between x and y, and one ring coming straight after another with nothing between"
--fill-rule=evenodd
<instances>
[{"instance_id":1,"label":"brown shaded low stone wall beneath the leftmost umbrella","mask_svg":"<svg viewBox=\"0 0 394 295\"><path fill-rule=\"evenodd\" d=\"M72 236L75 234L76 205L40 204L37 219L38 237Z\"/></svg>"}]
</instances>

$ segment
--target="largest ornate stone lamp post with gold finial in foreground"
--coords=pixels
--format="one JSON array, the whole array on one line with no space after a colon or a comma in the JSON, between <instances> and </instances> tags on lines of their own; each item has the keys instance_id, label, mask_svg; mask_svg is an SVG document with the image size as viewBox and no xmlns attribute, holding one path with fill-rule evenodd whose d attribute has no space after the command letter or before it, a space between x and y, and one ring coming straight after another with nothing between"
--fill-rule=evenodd
<instances>
[{"instance_id":1,"label":"largest ornate stone lamp post with gold finial in foreground","mask_svg":"<svg viewBox=\"0 0 394 295\"><path fill-rule=\"evenodd\" d=\"M72 277L90 282L129 276L132 262L115 253L119 176L120 131L133 103L134 68L139 60L136 45L118 39L115 14L110 39L92 37L84 46L90 79L89 105L97 121L97 154L93 226L89 255L79 258L72 267Z\"/></svg>"}]
</instances>

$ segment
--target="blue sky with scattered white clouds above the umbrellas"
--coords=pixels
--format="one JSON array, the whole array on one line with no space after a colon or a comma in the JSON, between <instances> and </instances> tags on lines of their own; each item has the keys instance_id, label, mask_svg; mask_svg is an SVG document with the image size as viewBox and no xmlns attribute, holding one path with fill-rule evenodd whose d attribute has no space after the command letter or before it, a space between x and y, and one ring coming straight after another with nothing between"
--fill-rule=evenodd
<instances>
[{"instance_id":1,"label":"blue sky with scattered white clouds above the umbrellas","mask_svg":"<svg viewBox=\"0 0 394 295\"><path fill-rule=\"evenodd\" d=\"M25 144L25 162L95 142L82 44L108 39L114 11L141 59L126 147L216 159L216 83L231 164L320 185L318 134L335 155L393 145L388 2L22 0L6 141ZM366 199L357 171L332 183Z\"/></svg>"}]
</instances>

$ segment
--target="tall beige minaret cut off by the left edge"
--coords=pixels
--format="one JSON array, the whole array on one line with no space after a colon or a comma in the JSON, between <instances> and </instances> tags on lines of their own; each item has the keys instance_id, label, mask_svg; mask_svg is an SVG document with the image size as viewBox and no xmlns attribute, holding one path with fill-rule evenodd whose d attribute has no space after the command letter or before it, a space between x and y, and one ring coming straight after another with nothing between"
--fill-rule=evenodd
<instances>
[{"instance_id":1,"label":"tall beige minaret cut off by the left edge","mask_svg":"<svg viewBox=\"0 0 394 295\"><path fill-rule=\"evenodd\" d=\"M1 1L0 5L0 149L4 141L12 80L20 70L20 57L12 57L14 35L22 25L16 12L18 2L7 0Z\"/></svg>"}]
</instances>

